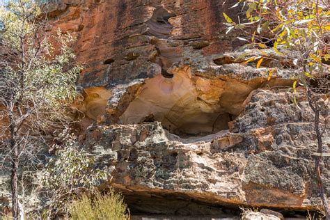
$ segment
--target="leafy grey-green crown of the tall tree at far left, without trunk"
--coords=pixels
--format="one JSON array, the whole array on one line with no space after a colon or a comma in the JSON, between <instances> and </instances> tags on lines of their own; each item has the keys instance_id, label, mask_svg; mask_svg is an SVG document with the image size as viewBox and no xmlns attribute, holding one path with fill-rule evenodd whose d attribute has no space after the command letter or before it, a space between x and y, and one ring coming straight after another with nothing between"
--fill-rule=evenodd
<instances>
[{"instance_id":1,"label":"leafy grey-green crown of the tall tree at far left, without trunk","mask_svg":"<svg viewBox=\"0 0 330 220\"><path fill-rule=\"evenodd\" d=\"M10 81L16 99L33 100L34 104L41 100L46 110L58 110L58 101L72 101L76 95L81 65L72 65L75 55L70 44L74 37L60 30L56 36L45 33L47 23L40 16L41 9L33 0L9 1L1 7L1 40L9 50L1 59L3 77ZM58 51L54 51L54 42ZM24 97L19 97L22 84Z\"/></svg>"}]
</instances>

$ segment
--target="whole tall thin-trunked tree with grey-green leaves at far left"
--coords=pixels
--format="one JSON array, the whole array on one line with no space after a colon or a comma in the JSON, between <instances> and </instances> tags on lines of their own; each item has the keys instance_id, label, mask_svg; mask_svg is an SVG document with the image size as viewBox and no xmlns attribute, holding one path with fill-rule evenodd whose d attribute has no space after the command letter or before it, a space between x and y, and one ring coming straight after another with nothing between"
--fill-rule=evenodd
<instances>
[{"instance_id":1,"label":"whole tall thin-trunked tree with grey-green leaves at far left","mask_svg":"<svg viewBox=\"0 0 330 220\"><path fill-rule=\"evenodd\" d=\"M54 131L72 122L68 106L81 65L70 48L74 37L47 31L36 1L8 1L0 7L0 24L0 164L10 175L17 219L24 213L18 204L31 202L24 192L36 189L31 180L44 166Z\"/></svg>"}]
</instances>

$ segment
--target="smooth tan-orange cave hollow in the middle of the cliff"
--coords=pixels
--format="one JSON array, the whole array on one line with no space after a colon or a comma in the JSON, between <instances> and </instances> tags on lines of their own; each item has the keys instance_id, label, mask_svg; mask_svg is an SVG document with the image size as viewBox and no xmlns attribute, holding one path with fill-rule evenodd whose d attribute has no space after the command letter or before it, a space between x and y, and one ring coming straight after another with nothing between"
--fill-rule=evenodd
<instances>
[{"instance_id":1,"label":"smooth tan-orange cave hollow in the middle of the cliff","mask_svg":"<svg viewBox=\"0 0 330 220\"><path fill-rule=\"evenodd\" d=\"M241 111L239 108L249 91L244 91L242 97L234 91L221 99L223 88L212 88L210 81L205 80L184 72L175 72L168 78L157 74L146 79L139 95L119 117L120 123L159 121L168 132L180 137L206 136L228 130L228 123Z\"/></svg>"}]
</instances>

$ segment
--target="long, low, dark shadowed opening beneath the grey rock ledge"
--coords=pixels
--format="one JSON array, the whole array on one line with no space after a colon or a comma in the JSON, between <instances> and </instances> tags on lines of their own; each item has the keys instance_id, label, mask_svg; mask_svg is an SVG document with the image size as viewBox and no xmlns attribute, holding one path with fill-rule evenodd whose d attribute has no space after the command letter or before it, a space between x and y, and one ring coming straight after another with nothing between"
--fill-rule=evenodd
<instances>
[{"instance_id":1,"label":"long, low, dark shadowed opening beneath the grey rock ledge","mask_svg":"<svg viewBox=\"0 0 330 220\"><path fill-rule=\"evenodd\" d=\"M157 191L128 191L116 189L123 194L124 202L132 214L132 219L239 219L242 207L221 201L201 201L180 192L164 194ZM107 191L104 191L107 193ZM247 206L249 207L249 206ZM258 207L259 212L269 212L269 207ZM271 207L288 219L304 219L316 210L283 209ZM262 211L263 210L263 211Z\"/></svg>"}]
</instances>

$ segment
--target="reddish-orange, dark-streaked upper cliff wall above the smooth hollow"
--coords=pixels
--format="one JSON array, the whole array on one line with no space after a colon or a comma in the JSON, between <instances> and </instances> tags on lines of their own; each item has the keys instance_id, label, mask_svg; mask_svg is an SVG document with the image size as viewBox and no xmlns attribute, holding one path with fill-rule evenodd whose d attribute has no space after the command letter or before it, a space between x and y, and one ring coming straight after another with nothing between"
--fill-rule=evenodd
<instances>
[{"instance_id":1,"label":"reddish-orange, dark-streaked upper cliff wall above the smooth hollow","mask_svg":"<svg viewBox=\"0 0 330 220\"><path fill-rule=\"evenodd\" d=\"M86 66L79 82L86 88L87 102L93 102L93 107L85 102L85 109L81 110L93 120L105 113L105 100L110 96L105 91L111 91L111 88L120 84L141 84L144 79L157 75L159 78L161 74L171 78L171 68L182 61L190 68L191 64L195 68L206 68L200 71L205 72L210 68L209 62L214 66L217 64L212 58L207 61L201 58L226 52L239 45L237 38L226 36L223 32L222 12L237 14L237 11L228 9L233 4L230 1L226 4L223 1L61 2L52 6L50 15L55 20L54 29L59 27L77 35L75 50L79 61ZM189 86L187 82L182 85L182 78L172 83L174 87ZM159 82L155 81L150 83ZM198 83L203 84L203 81ZM161 87L168 91L173 85L169 83ZM221 88L221 85L218 87ZM136 95L136 89L133 89L132 95ZM116 92L118 90L113 91ZM160 98L164 99L164 96ZM168 104L171 107L174 103ZM217 118L205 117L212 120Z\"/></svg>"}]
</instances>

